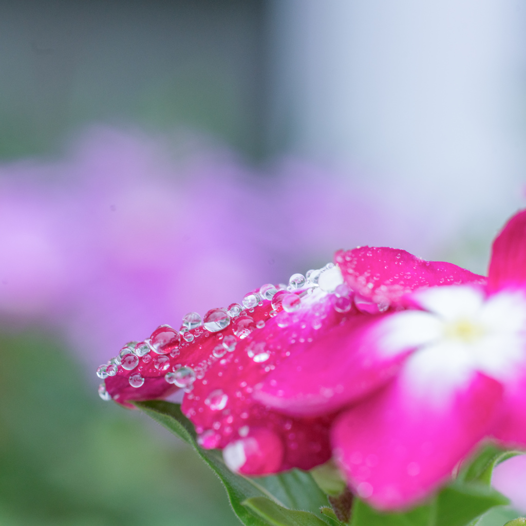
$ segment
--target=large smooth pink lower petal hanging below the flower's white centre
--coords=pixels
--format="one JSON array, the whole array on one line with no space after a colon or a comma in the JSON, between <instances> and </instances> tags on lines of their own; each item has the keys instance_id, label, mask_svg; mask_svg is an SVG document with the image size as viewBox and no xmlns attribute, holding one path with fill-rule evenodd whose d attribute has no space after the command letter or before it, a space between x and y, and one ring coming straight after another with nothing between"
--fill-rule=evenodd
<instances>
[{"instance_id":1,"label":"large smooth pink lower petal hanging below the flower's white centre","mask_svg":"<svg viewBox=\"0 0 526 526\"><path fill-rule=\"evenodd\" d=\"M484 437L501 396L498 382L475 373L439 406L399 377L335 423L333 447L351 488L385 510L425 499Z\"/></svg>"}]
</instances>

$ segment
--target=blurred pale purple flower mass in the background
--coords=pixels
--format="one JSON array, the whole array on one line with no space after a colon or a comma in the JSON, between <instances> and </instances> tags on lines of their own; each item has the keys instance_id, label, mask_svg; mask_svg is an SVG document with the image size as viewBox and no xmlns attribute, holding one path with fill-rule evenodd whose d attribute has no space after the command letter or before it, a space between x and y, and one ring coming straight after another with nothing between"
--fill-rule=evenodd
<instances>
[{"instance_id":1,"label":"blurred pale purple flower mass in the background","mask_svg":"<svg viewBox=\"0 0 526 526\"><path fill-rule=\"evenodd\" d=\"M159 320L178 327L188 310L226 306L335 246L383 240L378 204L344 179L190 150L96 128L62 160L0 166L4 320L58 327L96 366Z\"/></svg>"}]
</instances>

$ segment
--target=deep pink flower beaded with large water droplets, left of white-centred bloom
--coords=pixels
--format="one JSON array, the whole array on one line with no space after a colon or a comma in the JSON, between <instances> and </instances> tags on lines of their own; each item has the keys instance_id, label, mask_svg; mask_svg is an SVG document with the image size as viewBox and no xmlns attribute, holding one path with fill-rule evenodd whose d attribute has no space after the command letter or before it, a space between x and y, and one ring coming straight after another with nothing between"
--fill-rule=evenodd
<instances>
[{"instance_id":1,"label":"deep pink flower beaded with large water droplets, left of white-centred bloom","mask_svg":"<svg viewBox=\"0 0 526 526\"><path fill-rule=\"evenodd\" d=\"M388 248L338 252L336 260L307 279L293 275L288 287L264 285L242 307L212 309L203 320L189 313L179 331L161 327L131 343L99 369L101 396L126 404L185 388L182 408L201 446L223 449L228 466L241 473L325 462L337 412L384 385L402 361L373 356L357 338L382 311L401 308L404 292L483 280Z\"/></svg>"}]
</instances>

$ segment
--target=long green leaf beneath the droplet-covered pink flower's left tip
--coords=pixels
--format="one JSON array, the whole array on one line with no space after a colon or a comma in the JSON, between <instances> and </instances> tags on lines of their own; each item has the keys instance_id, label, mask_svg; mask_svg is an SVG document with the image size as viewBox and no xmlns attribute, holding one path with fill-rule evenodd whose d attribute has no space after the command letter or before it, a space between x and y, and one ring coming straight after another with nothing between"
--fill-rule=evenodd
<instances>
[{"instance_id":1,"label":"long green leaf beneath the droplet-covered pink flower's left tip","mask_svg":"<svg viewBox=\"0 0 526 526\"><path fill-rule=\"evenodd\" d=\"M258 478L247 478L232 473L226 467L219 451L198 446L194 426L181 412L179 404L164 400L147 400L135 402L135 405L196 450L225 485L234 512L241 522L248 526L268 524L261 518L260 513L242 504L252 497L267 497L285 509L307 510L316 514L321 506L327 505L326 495L305 471L291 470L275 476ZM324 520L325 526L330 524L328 518Z\"/></svg>"}]
</instances>

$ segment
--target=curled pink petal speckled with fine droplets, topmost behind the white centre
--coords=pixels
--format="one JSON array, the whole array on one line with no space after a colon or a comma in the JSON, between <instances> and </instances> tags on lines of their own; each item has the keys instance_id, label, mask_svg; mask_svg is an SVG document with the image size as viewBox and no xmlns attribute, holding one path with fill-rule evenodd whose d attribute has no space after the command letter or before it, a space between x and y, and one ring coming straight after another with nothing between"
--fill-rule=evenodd
<instances>
[{"instance_id":1,"label":"curled pink petal speckled with fine droplets, topmost behind the white centre","mask_svg":"<svg viewBox=\"0 0 526 526\"><path fill-rule=\"evenodd\" d=\"M435 285L485 283L485 278L442 261L425 261L406 250L360 247L335 254L346 283L360 296L389 305L411 290Z\"/></svg>"}]
</instances>

